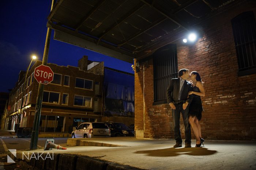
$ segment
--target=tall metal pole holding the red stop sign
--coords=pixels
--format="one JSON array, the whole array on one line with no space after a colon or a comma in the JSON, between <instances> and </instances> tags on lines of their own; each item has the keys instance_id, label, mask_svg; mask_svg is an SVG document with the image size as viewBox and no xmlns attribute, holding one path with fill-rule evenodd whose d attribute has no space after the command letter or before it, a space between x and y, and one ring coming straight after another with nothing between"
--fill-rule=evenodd
<instances>
[{"instance_id":1,"label":"tall metal pole holding the red stop sign","mask_svg":"<svg viewBox=\"0 0 256 170\"><path fill-rule=\"evenodd\" d=\"M51 11L53 8L53 4L54 4L54 0L52 0ZM52 29L50 28L47 29L42 65L47 65L51 31ZM35 105L34 123L33 123L32 134L31 134L30 150L37 149L38 130L39 130L39 122L40 122L40 116L41 116L43 93L44 93L44 84L39 83L38 92L37 92L37 103Z\"/></svg>"}]
</instances>

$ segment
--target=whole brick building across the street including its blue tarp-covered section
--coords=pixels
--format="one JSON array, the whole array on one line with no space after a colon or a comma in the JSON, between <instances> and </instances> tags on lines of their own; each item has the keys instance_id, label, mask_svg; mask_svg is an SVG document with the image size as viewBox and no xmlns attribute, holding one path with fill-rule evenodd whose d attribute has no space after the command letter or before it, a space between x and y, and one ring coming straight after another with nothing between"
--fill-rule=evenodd
<instances>
[{"instance_id":1,"label":"whole brick building across the street including its blue tarp-covered section","mask_svg":"<svg viewBox=\"0 0 256 170\"><path fill-rule=\"evenodd\" d=\"M28 72L24 93L25 73L20 72L19 80L10 93L9 109L2 117L3 129L33 126L38 92L38 82L34 80L33 72L41 63L37 61ZM79 67L52 63L48 63L48 66L53 70L54 78L44 88L39 131L70 133L74 127L86 121L134 124L133 74L104 67L104 62L90 61L87 56L78 61ZM119 107L113 103L115 97ZM79 100L83 101L79 103Z\"/></svg>"}]
</instances>

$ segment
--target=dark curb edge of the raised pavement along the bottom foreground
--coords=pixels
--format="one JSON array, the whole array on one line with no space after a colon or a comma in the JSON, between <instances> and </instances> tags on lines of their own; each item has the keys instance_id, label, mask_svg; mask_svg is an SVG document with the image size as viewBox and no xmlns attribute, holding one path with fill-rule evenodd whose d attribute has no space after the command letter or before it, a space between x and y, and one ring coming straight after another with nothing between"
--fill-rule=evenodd
<instances>
[{"instance_id":1,"label":"dark curb edge of the raised pavement along the bottom foreground","mask_svg":"<svg viewBox=\"0 0 256 170\"><path fill-rule=\"evenodd\" d=\"M40 155L45 158L47 154ZM53 154L53 159L47 158L45 160L30 157L28 160L22 159L22 154L17 153L15 161L22 169L31 170L143 170L129 165L71 154Z\"/></svg>"}]
</instances>

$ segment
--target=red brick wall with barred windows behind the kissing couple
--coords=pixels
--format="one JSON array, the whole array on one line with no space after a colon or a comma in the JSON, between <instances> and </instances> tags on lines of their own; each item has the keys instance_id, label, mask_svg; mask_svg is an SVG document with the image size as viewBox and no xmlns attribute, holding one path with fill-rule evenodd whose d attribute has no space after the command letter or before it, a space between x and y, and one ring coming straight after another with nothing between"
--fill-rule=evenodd
<instances>
[{"instance_id":1,"label":"red brick wall with barred windows behind the kissing couple","mask_svg":"<svg viewBox=\"0 0 256 170\"><path fill-rule=\"evenodd\" d=\"M248 11L251 13L246 13ZM179 69L187 68L199 72L205 82L205 97L202 97L205 112L200 121L203 138L256 139L255 16L256 6L252 1L236 5L201 23L203 35L195 44L187 45L179 40L158 49L149 57L151 59L144 59L148 61L148 65L144 65L147 69L135 73L136 137L174 138L172 111L165 100L161 104L161 99L165 97L170 78L177 77ZM245 39L238 40L239 35ZM176 55L167 56L176 51L177 62ZM247 57L251 59L247 61ZM170 64L173 67L169 67ZM167 77L165 82L161 82L161 76ZM159 81L154 81L156 78ZM184 139L182 118L180 123Z\"/></svg>"}]
</instances>

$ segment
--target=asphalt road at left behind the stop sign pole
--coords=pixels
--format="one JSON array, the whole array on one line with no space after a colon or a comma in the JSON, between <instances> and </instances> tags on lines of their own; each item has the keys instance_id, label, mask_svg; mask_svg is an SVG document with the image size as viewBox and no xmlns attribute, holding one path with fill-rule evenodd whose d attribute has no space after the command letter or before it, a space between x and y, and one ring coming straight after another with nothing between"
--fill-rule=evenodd
<instances>
[{"instance_id":1,"label":"asphalt road at left behind the stop sign pole","mask_svg":"<svg viewBox=\"0 0 256 170\"><path fill-rule=\"evenodd\" d=\"M67 145L68 138L38 138L38 148L44 147L46 139L54 139L54 143L61 146ZM29 150L30 138L0 138L0 154L8 149Z\"/></svg>"}]
</instances>

